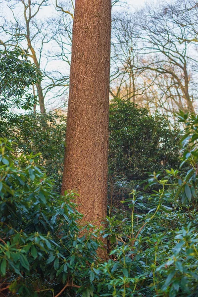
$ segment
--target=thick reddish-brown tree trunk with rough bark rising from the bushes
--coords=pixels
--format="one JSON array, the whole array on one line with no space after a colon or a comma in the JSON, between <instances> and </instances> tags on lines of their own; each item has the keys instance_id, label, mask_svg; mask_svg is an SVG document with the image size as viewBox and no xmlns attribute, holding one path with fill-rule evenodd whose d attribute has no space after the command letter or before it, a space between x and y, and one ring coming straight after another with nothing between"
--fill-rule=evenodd
<instances>
[{"instance_id":1,"label":"thick reddish-brown tree trunk with rough bark rising from the bushes","mask_svg":"<svg viewBox=\"0 0 198 297\"><path fill-rule=\"evenodd\" d=\"M111 0L76 0L62 182L83 221L106 216ZM99 252L100 256L102 252Z\"/></svg>"}]
</instances>

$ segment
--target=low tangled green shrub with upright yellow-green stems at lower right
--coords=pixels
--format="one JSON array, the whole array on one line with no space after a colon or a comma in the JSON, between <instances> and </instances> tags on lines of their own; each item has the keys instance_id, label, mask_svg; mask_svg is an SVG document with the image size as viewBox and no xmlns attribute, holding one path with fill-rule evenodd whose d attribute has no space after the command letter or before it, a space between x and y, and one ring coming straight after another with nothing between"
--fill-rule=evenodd
<instances>
[{"instance_id":1,"label":"low tangled green shrub with upright yellow-green stems at lower right","mask_svg":"<svg viewBox=\"0 0 198 297\"><path fill-rule=\"evenodd\" d=\"M131 211L107 217L110 259L95 274L99 296L197 296L198 213L167 206L167 180L160 183L147 203L133 191L123 201Z\"/></svg>"}]
</instances>

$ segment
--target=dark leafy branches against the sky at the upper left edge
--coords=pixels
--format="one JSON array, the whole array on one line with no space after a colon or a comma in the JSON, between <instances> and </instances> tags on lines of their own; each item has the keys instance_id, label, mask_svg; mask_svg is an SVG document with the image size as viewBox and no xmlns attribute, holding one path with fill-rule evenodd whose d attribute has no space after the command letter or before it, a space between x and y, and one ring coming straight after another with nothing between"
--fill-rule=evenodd
<instances>
[{"instance_id":1,"label":"dark leafy branches against the sky at the upper left edge","mask_svg":"<svg viewBox=\"0 0 198 297\"><path fill-rule=\"evenodd\" d=\"M27 93L32 84L41 80L37 68L26 59L20 49L12 51L0 50L0 121L12 117L8 109L31 109L36 98ZM1 122L0 122L1 124Z\"/></svg>"}]
</instances>

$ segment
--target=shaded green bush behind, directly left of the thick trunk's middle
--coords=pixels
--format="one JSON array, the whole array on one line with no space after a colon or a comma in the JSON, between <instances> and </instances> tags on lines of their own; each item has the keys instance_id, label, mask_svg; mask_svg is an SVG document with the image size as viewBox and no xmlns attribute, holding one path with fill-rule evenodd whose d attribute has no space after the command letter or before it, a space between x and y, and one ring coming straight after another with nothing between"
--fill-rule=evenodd
<instances>
[{"instance_id":1,"label":"shaded green bush behind, directly left of the thick trunk's middle","mask_svg":"<svg viewBox=\"0 0 198 297\"><path fill-rule=\"evenodd\" d=\"M54 180L53 190L60 193L62 183L66 117L57 113L15 115L14 122L4 123L2 136L12 138L15 151L40 153L37 165L45 168ZM14 145L13 145L14 147Z\"/></svg>"}]
</instances>

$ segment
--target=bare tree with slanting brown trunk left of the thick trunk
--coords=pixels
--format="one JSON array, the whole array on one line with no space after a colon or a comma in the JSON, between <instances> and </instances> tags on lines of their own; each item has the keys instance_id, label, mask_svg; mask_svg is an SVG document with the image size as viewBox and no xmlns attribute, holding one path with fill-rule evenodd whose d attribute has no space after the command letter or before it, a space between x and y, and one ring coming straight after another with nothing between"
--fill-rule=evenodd
<instances>
[{"instance_id":1,"label":"bare tree with slanting brown trunk left of the thick trunk","mask_svg":"<svg viewBox=\"0 0 198 297\"><path fill-rule=\"evenodd\" d=\"M57 32L51 30L45 17L41 17L49 7L49 0L8 0L7 4L12 17L10 20L1 17L0 44L5 48L20 47L42 71L44 80L36 84L36 89L41 113L45 113L44 100L50 92L53 97L61 97L69 86L69 71L64 74L62 69L58 70L61 58L54 54L60 51L57 49L60 45L54 46ZM55 65L55 69L51 65Z\"/></svg>"}]
</instances>

